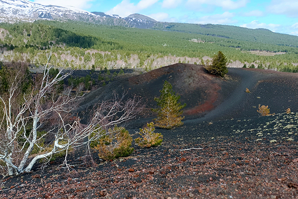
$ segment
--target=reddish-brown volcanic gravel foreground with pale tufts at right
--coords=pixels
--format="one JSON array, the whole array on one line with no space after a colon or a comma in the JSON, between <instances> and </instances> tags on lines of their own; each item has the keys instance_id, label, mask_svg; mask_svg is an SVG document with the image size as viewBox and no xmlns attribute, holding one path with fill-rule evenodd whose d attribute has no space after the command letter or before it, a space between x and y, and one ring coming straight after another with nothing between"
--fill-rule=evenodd
<instances>
[{"instance_id":1,"label":"reddish-brown volcanic gravel foreground with pale tufts at right","mask_svg":"<svg viewBox=\"0 0 298 199\"><path fill-rule=\"evenodd\" d=\"M156 129L161 146L2 180L2 199L297 199L298 113ZM134 133L134 130L131 130ZM58 161L59 162L59 161Z\"/></svg>"}]
</instances>

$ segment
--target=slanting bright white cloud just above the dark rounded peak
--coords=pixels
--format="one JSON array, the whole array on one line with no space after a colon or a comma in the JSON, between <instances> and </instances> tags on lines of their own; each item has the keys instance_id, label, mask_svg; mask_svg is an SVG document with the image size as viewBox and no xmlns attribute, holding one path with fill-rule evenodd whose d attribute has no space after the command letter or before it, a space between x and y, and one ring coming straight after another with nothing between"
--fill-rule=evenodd
<instances>
[{"instance_id":1,"label":"slanting bright white cloud just above the dark rounded peak","mask_svg":"<svg viewBox=\"0 0 298 199\"><path fill-rule=\"evenodd\" d=\"M141 0L137 5L131 3L130 0L123 0L121 3L107 11L109 14L119 14L120 16L128 16L137 13L142 9L148 8L158 0Z\"/></svg>"}]
</instances>

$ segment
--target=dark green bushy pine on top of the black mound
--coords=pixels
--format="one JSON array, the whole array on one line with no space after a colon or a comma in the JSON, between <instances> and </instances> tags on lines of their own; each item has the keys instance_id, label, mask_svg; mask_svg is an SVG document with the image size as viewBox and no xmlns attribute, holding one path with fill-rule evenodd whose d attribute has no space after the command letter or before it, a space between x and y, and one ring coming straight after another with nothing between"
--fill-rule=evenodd
<instances>
[{"instance_id":1,"label":"dark green bushy pine on top of the black mound","mask_svg":"<svg viewBox=\"0 0 298 199\"><path fill-rule=\"evenodd\" d=\"M226 58L222 51L219 51L212 59L212 64L205 66L206 70L219 77L224 77L228 72L226 67Z\"/></svg>"}]
</instances>

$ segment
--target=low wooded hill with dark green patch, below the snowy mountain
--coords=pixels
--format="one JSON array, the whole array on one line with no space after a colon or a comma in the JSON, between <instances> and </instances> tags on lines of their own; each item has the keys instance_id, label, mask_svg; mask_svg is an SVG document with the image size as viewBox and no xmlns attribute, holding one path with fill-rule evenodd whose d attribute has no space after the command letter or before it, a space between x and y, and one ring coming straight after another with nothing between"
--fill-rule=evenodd
<instances>
[{"instance_id":1,"label":"low wooded hill with dark green patch, below the snowy mountain","mask_svg":"<svg viewBox=\"0 0 298 199\"><path fill-rule=\"evenodd\" d=\"M43 23L1 24L1 27L9 32L9 35L6 35L1 43L4 46L10 44L19 52L24 52L30 47L44 50L53 44L79 48L93 48L97 45L105 50L121 49L116 42L104 41L90 35L76 34L70 30Z\"/></svg>"}]
</instances>

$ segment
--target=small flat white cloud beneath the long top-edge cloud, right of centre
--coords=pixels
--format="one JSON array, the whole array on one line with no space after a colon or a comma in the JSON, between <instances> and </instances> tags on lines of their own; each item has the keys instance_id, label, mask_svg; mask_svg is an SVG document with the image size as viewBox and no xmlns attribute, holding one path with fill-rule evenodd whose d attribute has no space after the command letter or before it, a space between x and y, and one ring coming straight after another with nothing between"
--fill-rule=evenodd
<instances>
[{"instance_id":1,"label":"small flat white cloud beneath the long top-edge cloud, right of centre","mask_svg":"<svg viewBox=\"0 0 298 199\"><path fill-rule=\"evenodd\" d=\"M236 23L237 20L232 19L234 16L235 16L234 13L230 13L230 12L226 11L223 14L203 16L197 21L197 23L201 23L201 24L207 24L207 23L212 23L212 24Z\"/></svg>"}]
</instances>

